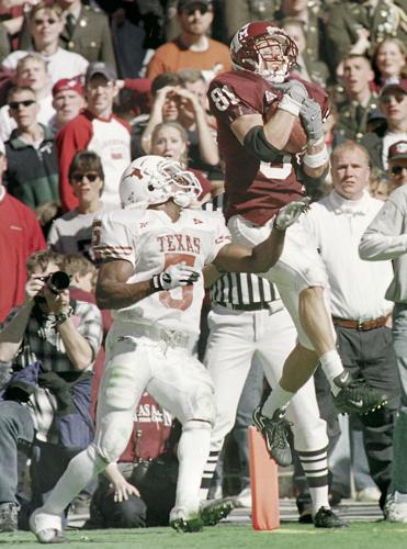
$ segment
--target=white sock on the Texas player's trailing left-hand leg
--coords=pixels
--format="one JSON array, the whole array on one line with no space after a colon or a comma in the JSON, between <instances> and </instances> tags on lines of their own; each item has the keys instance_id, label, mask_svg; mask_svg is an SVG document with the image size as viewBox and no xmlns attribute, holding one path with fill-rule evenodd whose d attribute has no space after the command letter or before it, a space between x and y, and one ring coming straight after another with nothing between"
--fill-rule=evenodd
<instances>
[{"instance_id":1,"label":"white sock on the Texas player's trailing left-hand leg","mask_svg":"<svg viewBox=\"0 0 407 549\"><path fill-rule=\"evenodd\" d=\"M69 461L65 473L43 505L44 513L60 515L74 497L106 467L108 463L99 457L93 445L78 453Z\"/></svg>"}]
</instances>

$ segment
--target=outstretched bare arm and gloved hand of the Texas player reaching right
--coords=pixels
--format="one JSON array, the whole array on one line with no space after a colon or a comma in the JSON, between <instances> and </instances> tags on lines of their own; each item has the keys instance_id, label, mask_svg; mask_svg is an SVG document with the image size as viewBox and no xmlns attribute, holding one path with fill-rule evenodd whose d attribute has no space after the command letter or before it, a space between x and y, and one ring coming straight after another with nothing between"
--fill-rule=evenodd
<instances>
[{"instance_id":1,"label":"outstretched bare arm and gloved hand of the Texas player reaching right","mask_svg":"<svg viewBox=\"0 0 407 549\"><path fill-rule=\"evenodd\" d=\"M291 202L280 210L270 236L253 248L227 244L214 260L219 271L265 272L279 260L284 246L285 229L309 209L309 199Z\"/></svg>"}]
</instances>

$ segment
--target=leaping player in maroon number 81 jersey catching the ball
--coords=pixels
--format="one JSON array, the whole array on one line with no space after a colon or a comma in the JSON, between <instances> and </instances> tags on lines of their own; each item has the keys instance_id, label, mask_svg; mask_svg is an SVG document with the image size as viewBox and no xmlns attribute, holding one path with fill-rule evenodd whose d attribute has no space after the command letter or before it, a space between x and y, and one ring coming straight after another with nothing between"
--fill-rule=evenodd
<instances>
[{"instance_id":1,"label":"leaping player in maroon number 81 jersey catching the ball","mask_svg":"<svg viewBox=\"0 0 407 549\"><path fill-rule=\"evenodd\" d=\"M304 188L309 191L324 181L329 157L323 120L328 103L318 87L290 76L297 47L273 23L247 23L234 36L230 55L234 70L212 80L208 98L225 160L228 227L234 242L255 246L269 234L280 208L304 197ZM307 137L304 150L293 143L298 121ZM285 408L318 362L341 412L366 413L384 404L385 396L355 383L343 369L325 266L301 222L286 232L281 258L263 276L275 282L298 334L279 384L253 413L255 425L279 462L290 452Z\"/></svg>"}]
</instances>

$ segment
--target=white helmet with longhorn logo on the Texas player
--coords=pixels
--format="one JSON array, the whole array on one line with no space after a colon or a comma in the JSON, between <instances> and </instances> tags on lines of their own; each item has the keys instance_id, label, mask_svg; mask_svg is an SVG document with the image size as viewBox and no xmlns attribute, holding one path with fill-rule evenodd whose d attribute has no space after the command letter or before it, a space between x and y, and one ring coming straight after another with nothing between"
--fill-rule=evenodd
<instances>
[{"instance_id":1,"label":"white helmet with longhorn logo on the Texas player","mask_svg":"<svg viewBox=\"0 0 407 549\"><path fill-rule=\"evenodd\" d=\"M142 156L124 171L118 193L122 208L147 208L172 199L188 208L202 192L196 177L172 158Z\"/></svg>"}]
</instances>

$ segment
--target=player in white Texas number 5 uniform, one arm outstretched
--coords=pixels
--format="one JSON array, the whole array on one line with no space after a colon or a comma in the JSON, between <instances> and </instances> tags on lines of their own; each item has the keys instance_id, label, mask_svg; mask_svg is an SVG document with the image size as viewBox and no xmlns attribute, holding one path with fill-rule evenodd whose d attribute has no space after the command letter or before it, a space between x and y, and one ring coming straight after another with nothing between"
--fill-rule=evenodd
<instances>
[{"instance_id":1,"label":"player in white Texas number 5 uniform, one arm outstretched","mask_svg":"<svg viewBox=\"0 0 407 549\"><path fill-rule=\"evenodd\" d=\"M31 517L43 544L64 539L60 514L90 480L117 460L147 390L182 424L179 477L170 524L196 531L205 522L200 483L214 421L211 378L191 354L204 295L202 268L263 272L283 248L285 228L307 209L293 202L275 216L270 236L253 248L229 244L222 214L190 206L202 189L179 163L145 156L122 176L123 210L102 214L93 247L102 259L98 305L113 310L99 392L97 434L76 456L45 505Z\"/></svg>"}]
</instances>

